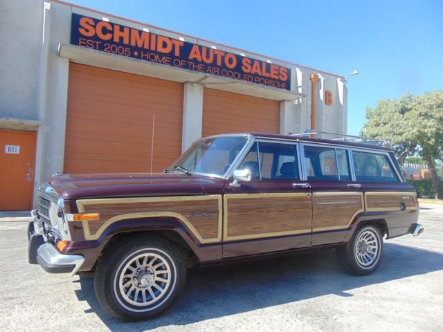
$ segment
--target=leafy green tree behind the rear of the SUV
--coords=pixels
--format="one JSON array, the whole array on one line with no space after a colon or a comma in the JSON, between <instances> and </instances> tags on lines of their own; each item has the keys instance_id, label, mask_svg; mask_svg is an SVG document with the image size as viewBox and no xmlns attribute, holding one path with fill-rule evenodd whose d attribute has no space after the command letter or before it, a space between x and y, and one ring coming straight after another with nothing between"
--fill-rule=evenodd
<instances>
[{"instance_id":1,"label":"leafy green tree behind the rear of the SUV","mask_svg":"<svg viewBox=\"0 0 443 332\"><path fill-rule=\"evenodd\" d=\"M442 199L436 165L443 156L443 91L380 100L366 109L366 119L362 136L389 140L399 163L421 156L431 170L435 198Z\"/></svg>"}]
</instances>

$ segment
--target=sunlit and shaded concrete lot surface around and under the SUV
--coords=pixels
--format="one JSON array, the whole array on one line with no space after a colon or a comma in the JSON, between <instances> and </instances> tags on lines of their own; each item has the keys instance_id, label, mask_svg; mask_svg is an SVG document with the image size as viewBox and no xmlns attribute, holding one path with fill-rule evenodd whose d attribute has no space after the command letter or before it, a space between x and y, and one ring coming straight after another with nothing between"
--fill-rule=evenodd
<instances>
[{"instance_id":1,"label":"sunlit and shaded concrete lot surface around and under the SUV","mask_svg":"<svg viewBox=\"0 0 443 332\"><path fill-rule=\"evenodd\" d=\"M154 320L108 317L93 277L55 279L27 261L26 223L0 221L0 331L443 331L443 205L425 228L385 242L378 270L343 272L334 250L192 268L172 310Z\"/></svg>"}]
</instances>

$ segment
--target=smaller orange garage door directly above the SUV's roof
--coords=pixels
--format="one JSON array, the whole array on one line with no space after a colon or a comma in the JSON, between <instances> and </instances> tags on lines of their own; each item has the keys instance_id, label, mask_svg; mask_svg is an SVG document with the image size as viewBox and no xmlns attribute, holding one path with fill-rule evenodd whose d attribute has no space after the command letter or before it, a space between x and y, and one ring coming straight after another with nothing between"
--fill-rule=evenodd
<instances>
[{"instance_id":1,"label":"smaller orange garage door directly above the SUV's roof","mask_svg":"<svg viewBox=\"0 0 443 332\"><path fill-rule=\"evenodd\" d=\"M203 136L217 133L278 133L278 101L204 89Z\"/></svg>"}]
</instances>

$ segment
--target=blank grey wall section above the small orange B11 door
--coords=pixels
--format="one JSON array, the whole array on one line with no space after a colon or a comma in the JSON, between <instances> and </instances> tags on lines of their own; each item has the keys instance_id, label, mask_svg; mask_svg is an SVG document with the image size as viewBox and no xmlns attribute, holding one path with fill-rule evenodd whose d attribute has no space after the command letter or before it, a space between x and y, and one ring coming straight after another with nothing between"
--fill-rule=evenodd
<instances>
[{"instance_id":1,"label":"blank grey wall section above the small orange B11 door","mask_svg":"<svg viewBox=\"0 0 443 332\"><path fill-rule=\"evenodd\" d=\"M0 1L0 118L38 119L41 0Z\"/></svg>"}]
</instances>

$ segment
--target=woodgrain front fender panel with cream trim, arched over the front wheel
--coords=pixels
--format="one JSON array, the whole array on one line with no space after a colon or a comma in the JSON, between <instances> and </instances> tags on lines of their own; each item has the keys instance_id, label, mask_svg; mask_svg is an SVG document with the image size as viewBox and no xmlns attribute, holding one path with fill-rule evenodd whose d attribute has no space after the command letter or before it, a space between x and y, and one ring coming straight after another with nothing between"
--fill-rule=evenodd
<instances>
[{"instance_id":1,"label":"woodgrain front fender panel with cream trim, arched over the front wheel","mask_svg":"<svg viewBox=\"0 0 443 332\"><path fill-rule=\"evenodd\" d=\"M86 221L86 238L98 239L111 223L123 219L171 216L188 226L202 243L221 241L220 195L89 199L77 203L80 212L100 213L99 220Z\"/></svg>"}]
</instances>

